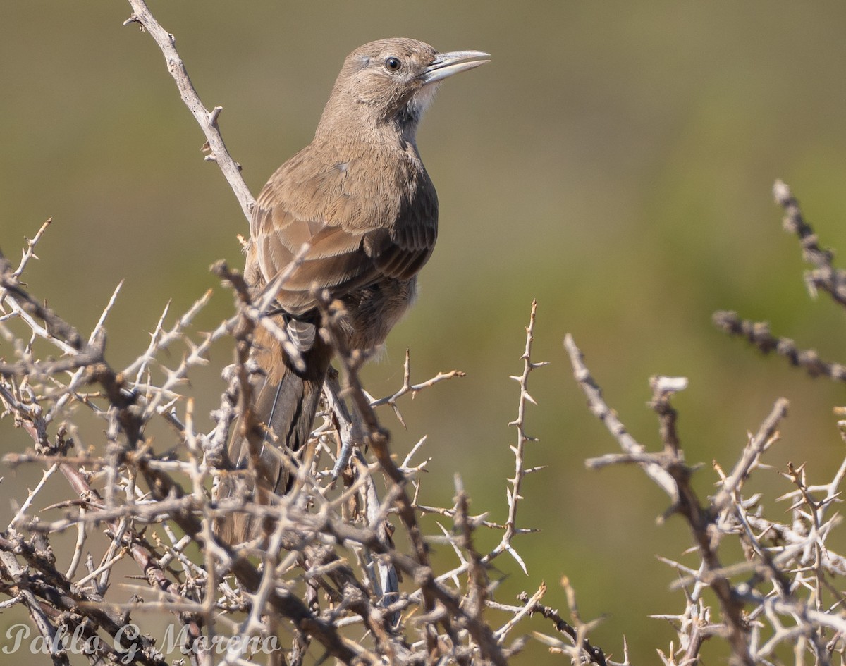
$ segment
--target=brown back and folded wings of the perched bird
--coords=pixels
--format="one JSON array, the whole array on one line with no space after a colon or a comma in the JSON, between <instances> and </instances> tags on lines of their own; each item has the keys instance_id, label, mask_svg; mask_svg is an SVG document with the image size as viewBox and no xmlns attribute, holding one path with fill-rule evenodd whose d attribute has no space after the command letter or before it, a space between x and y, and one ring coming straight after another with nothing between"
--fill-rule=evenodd
<instances>
[{"instance_id":1,"label":"brown back and folded wings of the perched bird","mask_svg":"<svg viewBox=\"0 0 846 666\"><path fill-rule=\"evenodd\" d=\"M291 314L316 306L314 286L341 297L382 277L409 280L437 237L437 197L425 172L425 182L414 182L419 174L400 175L403 189L387 183L373 191L372 176L358 177L360 160L326 157L300 151L273 175L253 209L250 232L264 281L284 270L303 243L310 245L277 296Z\"/></svg>"}]
</instances>

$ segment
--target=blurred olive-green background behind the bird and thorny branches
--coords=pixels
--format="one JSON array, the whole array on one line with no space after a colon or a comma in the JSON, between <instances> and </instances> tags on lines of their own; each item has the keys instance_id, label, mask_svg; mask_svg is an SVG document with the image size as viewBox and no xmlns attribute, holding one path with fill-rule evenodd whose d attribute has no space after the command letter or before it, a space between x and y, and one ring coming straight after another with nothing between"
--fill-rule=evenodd
<instances>
[{"instance_id":1,"label":"blurred olive-green background behind the bird and thorny branches","mask_svg":"<svg viewBox=\"0 0 846 666\"><path fill-rule=\"evenodd\" d=\"M390 412L383 421L402 455L428 434L422 501L450 504L459 472L472 509L501 521L518 397L508 375L521 371L538 300L533 358L552 364L531 376L538 407L528 431L541 441L527 462L547 469L526 479L519 522L542 532L516 543L528 577L497 561L508 575L499 601L546 580L545 602L564 611L558 581L569 576L582 617L606 616L591 639L622 658L625 635L640 663L674 636L646 616L684 608L668 591L675 574L656 560L683 557L682 521L656 526L666 500L637 469L585 470L585 457L617 445L574 385L568 331L651 448L648 378L689 377L675 405L688 460L705 463L702 494L711 461L730 467L778 396L790 414L767 461L808 461L812 481L831 477L843 458L832 416L843 388L729 340L711 313L767 319L800 346L846 360L843 313L807 296L798 243L781 231L771 195L783 178L821 242L846 248L846 4L183 0L151 9L176 35L206 106L223 106L224 138L254 194L310 141L355 46L412 36L492 53L442 86L420 131L441 201L438 247L419 303L367 378L376 395L396 390L405 347L415 380L466 371L404 400L408 431ZM214 287L197 327L230 314L231 296L207 267L241 265L235 236L247 232L217 166L202 160L204 139L157 46L121 25L129 14L121 2L0 5L0 248L14 259L54 219L26 279L85 334L125 280L107 324L118 368L146 347L168 299L172 322ZM198 418L215 405L230 358L217 346L194 375ZM29 444L8 419L0 438L3 451ZM40 478L4 473L7 498ZM756 483L769 500L789 489L775 471ZM5 504L0 516L10 515ZM480 535L481 547L498 538ZM530 659L561 661L534 645L515 663Z\"/></svg>"}]
</instances>

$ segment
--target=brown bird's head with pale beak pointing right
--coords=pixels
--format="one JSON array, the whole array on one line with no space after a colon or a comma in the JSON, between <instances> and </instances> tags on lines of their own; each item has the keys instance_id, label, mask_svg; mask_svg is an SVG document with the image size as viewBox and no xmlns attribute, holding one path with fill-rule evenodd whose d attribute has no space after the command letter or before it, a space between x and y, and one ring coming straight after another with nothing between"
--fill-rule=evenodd
<instances>
[{"instance_id":1,"label":"brown bird's head with pale beak pointing right","mask_svg":"<svg viewBox=\"0 0 846 666\"><path fill-rule=\"evenodd\" d=\"M438 53L412 39L371 41L350 53L335 81L321 125L337 115L414 130L437 85L448 76L487 63L481 51ZM327 117L328 116L328 117Z\"/></svg>"}]
</instances>

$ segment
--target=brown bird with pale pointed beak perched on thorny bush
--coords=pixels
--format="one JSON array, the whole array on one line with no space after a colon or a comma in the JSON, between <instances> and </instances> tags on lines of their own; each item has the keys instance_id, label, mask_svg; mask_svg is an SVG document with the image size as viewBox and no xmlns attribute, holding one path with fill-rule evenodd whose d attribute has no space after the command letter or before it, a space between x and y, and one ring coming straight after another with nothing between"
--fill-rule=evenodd
<instances>
[{"instance_id":1,"label":"brown bird with pale pointed beak perched on thorny bush","mask_svg":"<svg viewBox=\"0 0 846 666\"><path fill-rule=\"evenodd\" d=\"M274 317L299 348L300 370L265 329L255 331L262 370L253 410L260 435L255 500L288 489L288 468L273 445L296 451L308 442L332 358L318 334L316 290L328 290L346 310L351 349L382 345L415 300L417 273L437 238L437 194L415 134L437 84L478 67L478 51L438 53L421 41L365 44L343 62L314 140L275 172L255 201L244 270L255 294L285 270L304 243L309 249L276 294ZM255 450L255 440L254 440ZM249 438L236 436L230 460L245 468ZM243 485L242 485L243 488ZM224 478L219 496L234 494ZM230 543L254 538L260 523L244 514L217 524Z\"/></svg>"}]
</instances>

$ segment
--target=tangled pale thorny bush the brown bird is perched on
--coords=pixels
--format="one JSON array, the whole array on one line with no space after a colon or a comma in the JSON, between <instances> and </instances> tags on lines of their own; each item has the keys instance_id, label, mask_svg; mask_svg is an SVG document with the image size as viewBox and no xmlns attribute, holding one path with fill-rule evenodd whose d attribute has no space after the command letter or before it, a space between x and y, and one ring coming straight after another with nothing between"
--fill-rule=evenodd
<instances>
[{"instance_id":1,"label":"tangled pale thorny bush the brown bird is perched on","mask_svg":"<svg viewBox=\"0 0 846 666\"><path fill-rule=\"evenodd\" d=\"M201 105L173 46L173 36L162 30L143 2L130 0L130 4L135 12L130 21L142 25L162 49L180 94L206 132L211 159L221 165L245 216L249 216L252 199L243 187L238 166L231 161L222 143L217 128L219 108L207 112ZM86 341L73 326L26 292L24 283L19 280L30 259L36 258L36 243L46 228L44 225L36 237L28 241L18 270L12 271L5 261L0 270L0 307L3 307L0 334L3 340L14 345L16 355L12 363L6 358L0 362L0 370L8 371L0 372L0 399L6 414L14 416L15 424L25 429L36 442L35 452L9 454L5 460L10 465L30 462L49 467L41 483L30 491L19 507L9 533L0 535L0 539L4 539L0 540L0 551L3 551L0 556L14 554L16 558L26 558L28 555L26 565L30 570L47 574L50 579L45 587L30 590L30 580L27 581L29 587L21 589L8 585L6 574L13 570L12 567L0 565L0 577L3 577L0 589L14 595L10 604L21 603L29 607L32 620L43 630L45 639L55 636L61 628L63 613L78 613L83 621L95 619L99 624L93 631L99 626L113 632L116 625L105 626L98 614L126 622L129 614L136 611L167 610L188 629L185 636L189 643L185 647L198 647L189 654L191 663L197 666L211 663L211 652L198 641L206 637L213 640L213 622L228 625L231 631L241 635L268 636L276 634L278 626L287 625L285 620L290 620L297 638L292 652L285 657L290 657L288 663L301 662L310 641L325 651L318 659L333 656L341 663L374 664L387 659L403 666L419 666L433 660L462 666L475 663L504 666L508 658L523 647L525 637L508 646L503 643L506 635L527 616L525 608L515 611L502 625L503 631L496 635L490 621L483 616L483 611L489 608L486 606L491 589L487 582L488 569L497 552L484 556L477 552L474 532L480 527L493 527L494 523L470 516L469 498L457 481L455 505L444 510L444 515L453 519L453 529L446 537L458 549L465 567L461 572L470 574L470 580L464 587L456 571L451 575L438 575L428 560L429 543L418 523L417 494L411 500L408 492L409 478L418 478L418 472L426 465L424 461L417 467L409 467L423 439L398 466L388 446L387 431L382 429L373 412L373 407L388 404L402 420L398 412L399 398L409 393L414 397L420 390L443 379L463 376L463 373L440 373L424 382L412 383L407 353L403 385L392 395L373 400L360 385L357 373L361 358L352 358L353 354L339 350L342 360L349 362L344 365L351 378L348 379L351 389L346 397L356 407L362 423L361 432L376 454L376 464L368 467L360 451L357 452L359 455L354 461L357 477L343 492L333 493L331 481L320 469L319 456L327 447L324 442L317 447L314 456L286 458L285 464L295 472L296 483L291 494L280 498L277 504L256 505L250 497L216 503L208 491L211 481L223 474L249 473L228 469L223 449L232 423L239 415L244 417L244 409L249 409L244 407L249 404L249 382L244 379L255 371L250 367L250 332L255 326L266 328L286 348L294 363L299 359L295 348L288 349L290 341L283 326L266 316L285 276L279 276L264 292L256 294L237 271L218 266L217 274L233 286L238 296L238 312L195 341L189 329L195 315L208 303L210 292L198 299L172 326L166 324L169 309L166 307L157 319L146 350L123 372L117 372L107 363L104 340L107 316L118 297L119 285ZM290 270L296 265L294 262ZM530 532L516 526L516 507L525 474L541 468L525 469L523 465L525 443L531 440L525 433L525 402L531 401L527 379L530 370L541 365L531 363L529 358L534 315L533 306L522 357L524 374L515 378L521 391L519 415L513 423L518 429L518 444L513 447L515 475L508 479L511 484L509 517L504 526L508 536L501 542L508 547L511 538ZM19 322L29 327L32 334L29 341L13 332L19 329ZM234 371L228 374L228 386L222 392L219 409L212 416L217 425L209 434L203 434L196 428L194 403L186 388L187 382L192 368L207 362L211 343L232 334L239 344L239 360ZM39 347L33 344L37 338L52 343L63 356L55 361L38 358ZM162 357L166 353L173 354L177 342L184 345L185 351L181 360L171 367L170 363L162 362ZM102 390L96 386L92 390L85 389L91 384L100 385ZM177 410L181 411L183 404L184 415L178 415ZM340 401L338 404L343 405ZM85 409L74 412L79 405L86 407L89 410L86 413L95 418L105 419L106 426L101 427L104 432L99 441L86 435L74 442L81 429L74 423L74 414L85 412ZM333 408L340 409L337 405ZM173 426L168 432L176 445L163 453L157 453L162 445L161 436L157 435L154 444L152 437L144 432L156 415ZM52 439L48 434L50 423L58 423L58 432ZM317 436L324 440L332 437L331 424L321 429ZM69 449L77 444L83 445L80 455L69 456ZM376 468L387 478L387 494L382 502L375 492L371 492L375 490L371 474ZM43 516L36 520L32 516L36 500L46 494L47 484L52 483L53 472L57 470L67 478L72 494L77 497L45 509L69 511L58 520L44 520ZM353 510L349 516L349 502L355 497L362 498L365 511ZM267 524L275 527L272 534L266 535L269 549L258 549L256 543L244 544L239 549L218 543L211 525L217 516L233 510L271 519ZM411 556L393 544L393 526L387 522L393 514L400 517L409 533ZM356 527L354 522L363 523L365 527ZM97 528L105 528L107 536L99 552L93 549L91 541ZM29 542L22 542L12 533L24 529L29 530L32 543L47 543L56 532L75 531L74 550L65 563L67 574L58 570L54 574L55 566L42 557L41 550L27 550ZM193 549L198 553L196 556L191 554ZM360 557L367 552L372 557ZM520 561L514 551L510 552ZM155 591L156 598L140 609L135 599L113 603L106 596L110 586L116 585L116 565L127 557L140 567L146 586L133 585L125 589L139 595L149 589ZM261 567L256 566L251 557L261 560ZM413 592L403 592L397 587L393 596L386 594L387 588L380 584L380 577L371 573L372 562L383 570L402 571L406 580L414 585ZM80 565L83 572L78 574ZM300 576L296 575L299 569L302 570ZM450 578L456 581L455 588L450 587ZM300 582L307 588L301 598L297 590ZM71 586L71 592L77 596L71 599L65 594L63 598L59 590L57 602L51 595L62 586ZM73 586L79 589L74 590ZM415 611L415 606L421 607L422 613ZM244 613L244 620L236 625L231 613ZM353 621L365 628L365 636L341 631ZM85 631L88 633L84 636L93 635L91 629ZM410 636L411 632L420 640L409 645L405 635ZM141 636L139 641L143 640L146 639ZM160 663L161 655L147 644L143 647L147 652L139 658L140 663ZM109 647L104 650L107 659L118 660L119 655L109 652ZM311 652L315 652L314 647ZM54 656L54 660L62 658L60 654ZM243 663L244 658L244 652L230 651L225 661Z\"/></svg>"}]
</instances>

